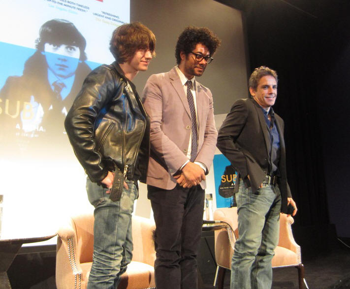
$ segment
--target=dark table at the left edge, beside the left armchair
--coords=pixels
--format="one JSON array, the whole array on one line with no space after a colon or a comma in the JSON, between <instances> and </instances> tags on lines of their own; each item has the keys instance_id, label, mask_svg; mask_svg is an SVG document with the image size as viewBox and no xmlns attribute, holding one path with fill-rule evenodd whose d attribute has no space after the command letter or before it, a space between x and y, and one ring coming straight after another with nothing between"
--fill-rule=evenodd
<instances>
[{"instance_id":1,"label":"dark table at the left edge, beside the left armchair","mask_svg":"<svg viewBox=\"0 0 350 289\"><path fill-rule=\"evenodd\" d=\"M56 234L32 238L0 239L0 288L11 289L7 270L23 244L46 241L55 236Z\"/></svg>"}]
</instances>

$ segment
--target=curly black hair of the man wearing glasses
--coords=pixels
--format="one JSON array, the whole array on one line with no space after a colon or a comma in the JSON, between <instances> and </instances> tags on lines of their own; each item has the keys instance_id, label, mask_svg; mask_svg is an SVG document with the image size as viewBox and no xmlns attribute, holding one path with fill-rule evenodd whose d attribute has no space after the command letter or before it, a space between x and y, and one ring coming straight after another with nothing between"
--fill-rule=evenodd
<instances>
[{"instance_id":1,"label":"curly black hair of the man wearing glasses","mask_svg":"<svg viewBox=\"0 0 350 289\"><path fill-rule=\"evenodd\" d=\"M220 46L221 40L206 27L186 27L177 39L175 48L176 63L180 64L181 62L181 52L188 55L198 43L205 45L209 49L210 56L213 56Z\"/></svg>"}]
</instances>

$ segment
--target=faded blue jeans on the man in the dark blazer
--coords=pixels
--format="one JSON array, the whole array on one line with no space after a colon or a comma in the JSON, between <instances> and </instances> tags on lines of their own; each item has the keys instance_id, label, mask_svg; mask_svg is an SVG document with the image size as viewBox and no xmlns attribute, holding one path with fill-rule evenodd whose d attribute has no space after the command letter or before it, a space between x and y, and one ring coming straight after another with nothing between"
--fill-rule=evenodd
<instances>
[{"instance_id":1,"label":"faded blue jeans on the man in the dark blazer","mask_svg":"<svg viewBox=\"0 0 350 289\"><path fill-rule=\"evenodd\" d=\"M238 240L231 263L231 289L270 289L271 259L280 232L281 193L278 185L252 192L243 182L236 193Z\"/></svg>"}]
</instances>

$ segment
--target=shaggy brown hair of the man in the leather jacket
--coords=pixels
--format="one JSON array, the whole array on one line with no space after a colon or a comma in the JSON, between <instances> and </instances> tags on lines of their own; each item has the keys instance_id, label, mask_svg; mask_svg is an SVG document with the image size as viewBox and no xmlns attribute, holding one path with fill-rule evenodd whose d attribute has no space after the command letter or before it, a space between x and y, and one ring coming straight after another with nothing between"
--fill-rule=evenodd
<instances>
[{"instance_id":1,"label":"shaggy brown hair of the man in the leather jacket","mask_svg":"<svg viewBox=\"0 0 350 289\"><path fill-rule=\"evenodd\" d=\"M140 22L123 24L112 33L109 50L118 63L129 61L138 49L149 49L156 55L156 36Z\"/></svg>"}]
</instances>

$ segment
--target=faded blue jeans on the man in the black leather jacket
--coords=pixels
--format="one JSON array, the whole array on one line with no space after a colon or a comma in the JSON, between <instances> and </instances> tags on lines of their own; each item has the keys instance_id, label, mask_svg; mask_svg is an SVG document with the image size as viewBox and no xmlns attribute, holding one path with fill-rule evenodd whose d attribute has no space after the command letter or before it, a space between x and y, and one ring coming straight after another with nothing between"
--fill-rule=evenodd
<instances>
[{"instance_id":1,"label":"faded blue jeans on the man in the black leather jacket","mask_svg":"<svg viewBox=\"0 0 350 289\"><path fill-rule=\"evenodd\" d=\"M95 207L94 255L88 289L117 288L121 275L132 258L131 213L137 188L127 181L120 201L109 199L107 189L90 181L86 190L90 203Z\"/></svg>"}]
</instances>

